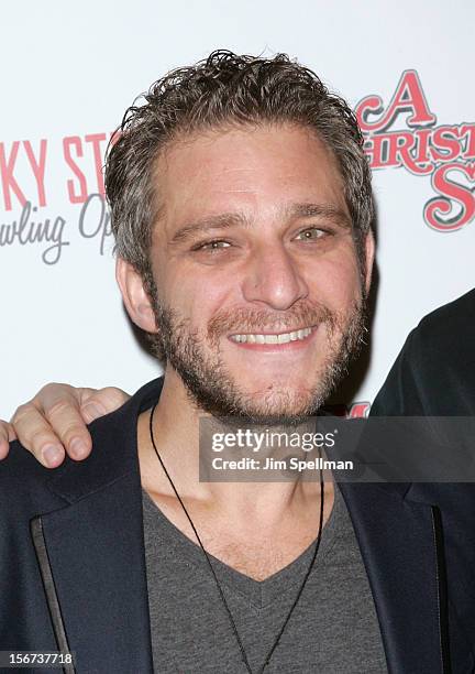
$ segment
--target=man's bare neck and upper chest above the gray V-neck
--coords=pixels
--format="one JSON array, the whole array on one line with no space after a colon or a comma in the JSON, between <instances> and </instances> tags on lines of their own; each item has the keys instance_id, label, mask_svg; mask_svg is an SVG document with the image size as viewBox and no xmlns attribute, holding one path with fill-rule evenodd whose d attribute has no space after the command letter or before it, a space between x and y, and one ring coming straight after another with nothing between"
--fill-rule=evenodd
<instances>
[{"instance_id":1,"label":"man's bare neck and upper chest above the gray V-neck","mask_svg":"<svg viewBox=\"0 0 475 674\"><path fill-rule=\"evenodd\" d=\"M314 540L320 520L320 483L200 482L201 412L180 380L166 376L153 417L159 456L205 548L255 580L277 573ZM142 487L165 517L197 543L195 532L166 477L151 442L151 411L139 418L137 442ZM333 483L324 487L323 524L333 508Z\"/></svg>"}]
</instances>

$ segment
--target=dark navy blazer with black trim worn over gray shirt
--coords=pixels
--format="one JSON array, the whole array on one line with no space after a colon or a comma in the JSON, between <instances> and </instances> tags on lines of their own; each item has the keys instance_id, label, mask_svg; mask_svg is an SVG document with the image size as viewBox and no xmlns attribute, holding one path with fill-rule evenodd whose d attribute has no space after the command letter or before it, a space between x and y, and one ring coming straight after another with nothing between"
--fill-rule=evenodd
<instances>
[{"instance_id":1,"label":"dark navy blazer with black trim worn over gray shirt","mask_svg":"<svg viewBox=\"0 0 475 674\"><path fill-rule=\"evenodd\" d=\"M400 412L394 401L404 394L408 367L397 361L376 412ZM146 384L91 424L93 452L85 461L67 459L52 471L13 447L0 463L0 650L68 648L79 673L153 671L136 417L162 384ZM341 490L389 672L473 673L473 486L343 483Z\"/></svg>"}]
</instances>

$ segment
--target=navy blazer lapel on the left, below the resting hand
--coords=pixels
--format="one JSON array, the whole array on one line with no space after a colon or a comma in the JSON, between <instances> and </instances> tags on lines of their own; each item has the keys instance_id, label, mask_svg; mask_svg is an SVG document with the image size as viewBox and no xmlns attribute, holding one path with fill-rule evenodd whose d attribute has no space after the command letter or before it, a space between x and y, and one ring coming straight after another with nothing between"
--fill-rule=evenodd
<instances>
[{"instance_id":1,"label":"navy blazer lapel on the left, below the resting hand","mask_svg":"<svg viewBox=\"0 0 475 674\"><path fill-rule=\"evenodd\" d=\"M42 517L77 672L153 672L140 497L124 477Z\"/></svg>"}]
</instances>

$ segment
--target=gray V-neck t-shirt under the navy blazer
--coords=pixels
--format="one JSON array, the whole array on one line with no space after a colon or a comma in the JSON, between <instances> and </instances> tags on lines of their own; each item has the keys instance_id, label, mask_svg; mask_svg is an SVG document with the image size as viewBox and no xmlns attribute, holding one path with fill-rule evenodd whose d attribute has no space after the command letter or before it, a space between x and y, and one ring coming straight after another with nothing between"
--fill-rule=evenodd
<instances>
[{"instance_id":1,"label":"gray V-neck t-shirt under the navy blazer","mask_svg":"<svg viewBox=\"0 0 475 674\"><path fill-rule=\"evenodd\" d=\"M161 674L245 674L201 548L143 492L152 648ZM210 555L252 672L259 672L295 601L314 543L263 581ZM373 595L343 497L323 529L314 567L265 674L387 674Z\"/></svg>"}]
</instances>

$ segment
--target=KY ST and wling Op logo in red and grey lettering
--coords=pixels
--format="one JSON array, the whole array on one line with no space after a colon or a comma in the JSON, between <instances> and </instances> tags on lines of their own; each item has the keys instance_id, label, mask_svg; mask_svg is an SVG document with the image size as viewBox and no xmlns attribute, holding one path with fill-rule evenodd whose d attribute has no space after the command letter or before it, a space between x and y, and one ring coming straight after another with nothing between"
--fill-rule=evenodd
<instances>
[{"instance_id":1,"label":"KY ST and wling Op logo in red and grey lettering","mask_svg":"<svg viewBox=\"0 0 475 674\"><path fill-rule=\"evenodd\" d=\"M0 142L0 210L5 211L0 221L0 248L41 244L41 259L51 265L70 246L68 235L76 233L95 240L100 254L104 253L112 235L102 173L109 138L106 133L70 135L60 145L54 139ZM49 195L78 205L74 227L63 215L51 213Z\"/></svg>"}]
</instances>

